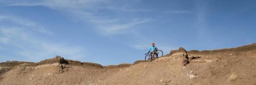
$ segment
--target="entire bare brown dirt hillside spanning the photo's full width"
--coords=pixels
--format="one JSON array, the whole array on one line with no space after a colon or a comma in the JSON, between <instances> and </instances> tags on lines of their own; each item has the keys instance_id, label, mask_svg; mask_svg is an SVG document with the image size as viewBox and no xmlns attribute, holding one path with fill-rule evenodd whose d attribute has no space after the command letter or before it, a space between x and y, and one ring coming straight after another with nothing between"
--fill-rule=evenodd
<instances>
[{"instance_id":1,"label":"entire bare brown dirt hillside spanning the photo's full width","mask_svg":"<svg viewBox=\"0 0 256 85\"><path fill-rule=\"evenodd\" d=\"M56 56L0 63L0 85L256 85L256 44L171 51L134 64L102 66Z\"/></svg>"}]
</instances>

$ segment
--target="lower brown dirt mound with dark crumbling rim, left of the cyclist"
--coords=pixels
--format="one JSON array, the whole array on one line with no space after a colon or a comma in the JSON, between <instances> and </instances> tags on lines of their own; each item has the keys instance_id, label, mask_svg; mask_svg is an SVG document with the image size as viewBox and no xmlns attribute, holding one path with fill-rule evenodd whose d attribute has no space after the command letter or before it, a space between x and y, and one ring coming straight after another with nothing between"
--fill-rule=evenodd
<instances>
[{"instance_id":1,"label":"lower brown dirt mound with dark crumbling rim, left of the cyclist","mask_svg":"<svg viewBox=\"0 0 256 85\"><path fill-rule=\"evenodd\" d=\"M3 65L12 69L0 76L0 85L94 85L132 64L103 67L56 56L36 63L3 62ZM2 71L5 70L1 68Z\"/></svg>"}]
</instances>

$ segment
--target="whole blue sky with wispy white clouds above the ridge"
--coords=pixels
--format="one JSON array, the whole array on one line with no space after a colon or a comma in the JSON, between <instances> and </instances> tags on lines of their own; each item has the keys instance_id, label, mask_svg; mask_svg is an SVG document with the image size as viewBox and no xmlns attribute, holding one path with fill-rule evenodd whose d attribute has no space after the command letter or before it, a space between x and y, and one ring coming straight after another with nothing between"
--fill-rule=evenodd
<instances>
[{"instance_id":1,"label":"whole blue sky with wispy white clouds above the ridge","mask_svg":"<svg viewBox=\"0 0 256 85\"><path fill-rule=\"evenodd\" d=\"M255 0L0 0L0 62L60 55L102 65L256 42Z\"/></svg>"}]
</instances>

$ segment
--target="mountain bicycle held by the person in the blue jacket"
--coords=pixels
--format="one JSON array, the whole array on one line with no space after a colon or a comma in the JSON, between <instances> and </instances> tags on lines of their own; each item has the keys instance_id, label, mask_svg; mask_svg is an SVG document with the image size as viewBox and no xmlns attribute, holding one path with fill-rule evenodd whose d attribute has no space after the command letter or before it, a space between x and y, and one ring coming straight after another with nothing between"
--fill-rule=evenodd
<instances>
[{"instance_id":1,"label":"mountain bicycle held by the person in the blue jacket","mask_svg":"<svg viewBox=\"0 0 256 85\"><path fill-rule=\"evenodd\" d=\"M163 51L161 50L155 50L154 51L155 54L153 54L152 52L148 51L147 54L144 54L146 55L145 56L145 61L153 61L153 59L156 57L156 58L159 58L159 57L162 57L163 56ZM160 56L159 56L160 55Z\"/></svg>"}]
</instances>

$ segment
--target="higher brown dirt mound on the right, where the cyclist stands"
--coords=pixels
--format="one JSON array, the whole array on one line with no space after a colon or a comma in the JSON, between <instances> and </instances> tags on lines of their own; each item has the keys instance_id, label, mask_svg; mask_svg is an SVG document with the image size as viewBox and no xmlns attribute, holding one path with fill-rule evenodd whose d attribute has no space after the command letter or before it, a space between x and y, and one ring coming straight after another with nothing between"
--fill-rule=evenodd
<instances>
[{"instance_id":1,"label":"higher brown dirt mound on the right, where the cyclist stands","mask_svg":"<svg viewBox=\"0 0 256 85\"><path fill-rule=\"evenodd\" d=\"M255 85L255 45L187 52L184 48L179 48L153 62L132 65L98 84ZM190 63L184 66L184 59L188 59Z\"/></svg>"}]
</instances>

